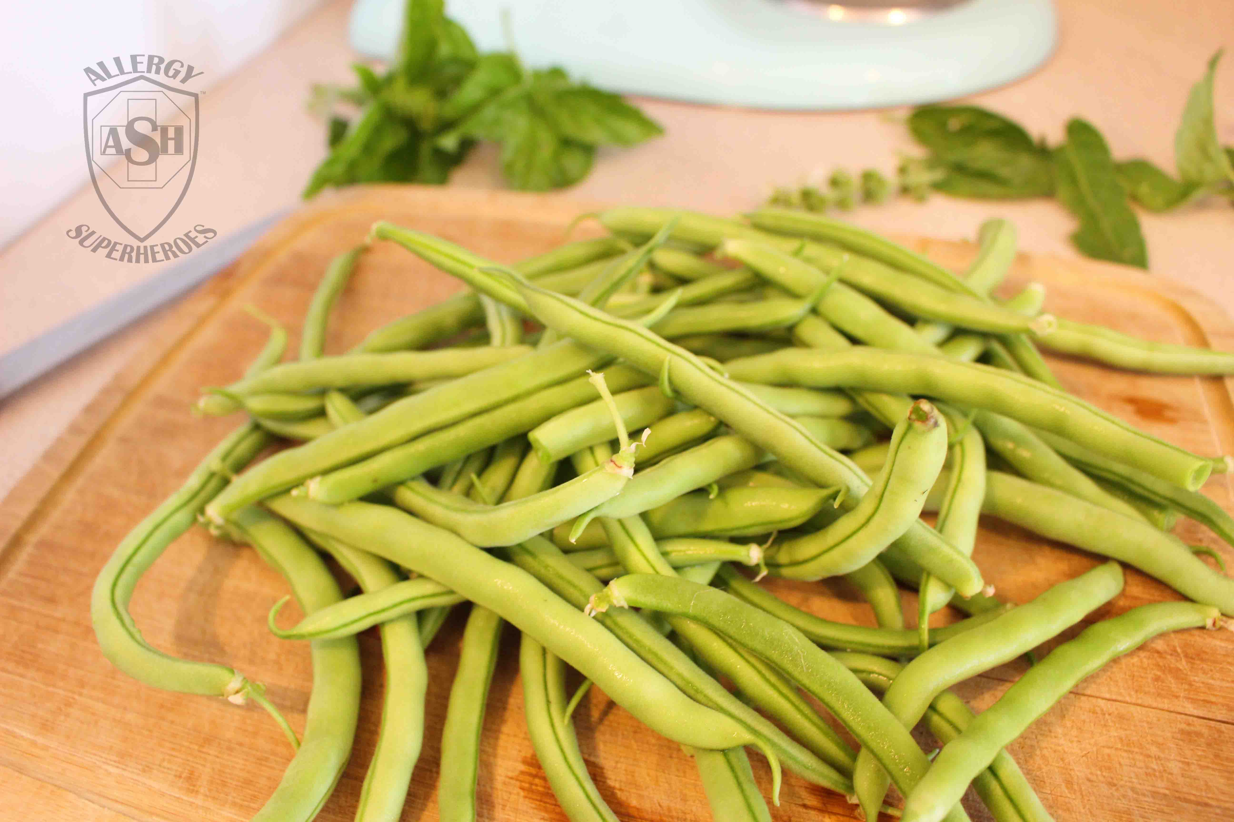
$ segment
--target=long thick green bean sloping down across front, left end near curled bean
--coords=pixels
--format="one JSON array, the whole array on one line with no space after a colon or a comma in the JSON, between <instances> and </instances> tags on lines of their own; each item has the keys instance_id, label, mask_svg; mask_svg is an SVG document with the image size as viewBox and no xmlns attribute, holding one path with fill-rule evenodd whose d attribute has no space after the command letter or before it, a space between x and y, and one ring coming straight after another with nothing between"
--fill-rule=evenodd
<instances>
[{"instance_id":1,"label":"long thick green bean sloping down across front, left end near curled bean","mask_svg":"<svg viewBox=\"0 0 1234 822\"><path fill-rule=\"evenodd\" d=\"M341 429L347 430L347 429ZM607 630L587 626L574 608L527 572L449 531L386 505L322 505L291 495L267 500L280 515L422 573L531 633L661 736L700 748L753 743L728 716L686 698Z\"/></svg>"}]
</instances>

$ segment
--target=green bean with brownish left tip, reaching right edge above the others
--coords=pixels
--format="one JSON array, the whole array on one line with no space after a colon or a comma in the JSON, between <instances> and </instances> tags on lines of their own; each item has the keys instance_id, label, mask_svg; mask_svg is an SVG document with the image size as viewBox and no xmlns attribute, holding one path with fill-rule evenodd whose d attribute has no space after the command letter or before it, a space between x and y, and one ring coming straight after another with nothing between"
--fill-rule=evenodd
<instances>
[{"instance_id":1,"label":"green bean with brownish left tip, reaching right edge above the others","mask_svg":"<svg viewBox=\"0 0 1234 822\"><path fill-rule=\"evenodd\" d=\"M1234 373L1234 352L1154 343L1101 325L1059 319L1038 335L1041 345L1128 371L1185 375Z\"/></svg>"}]
</instances>

